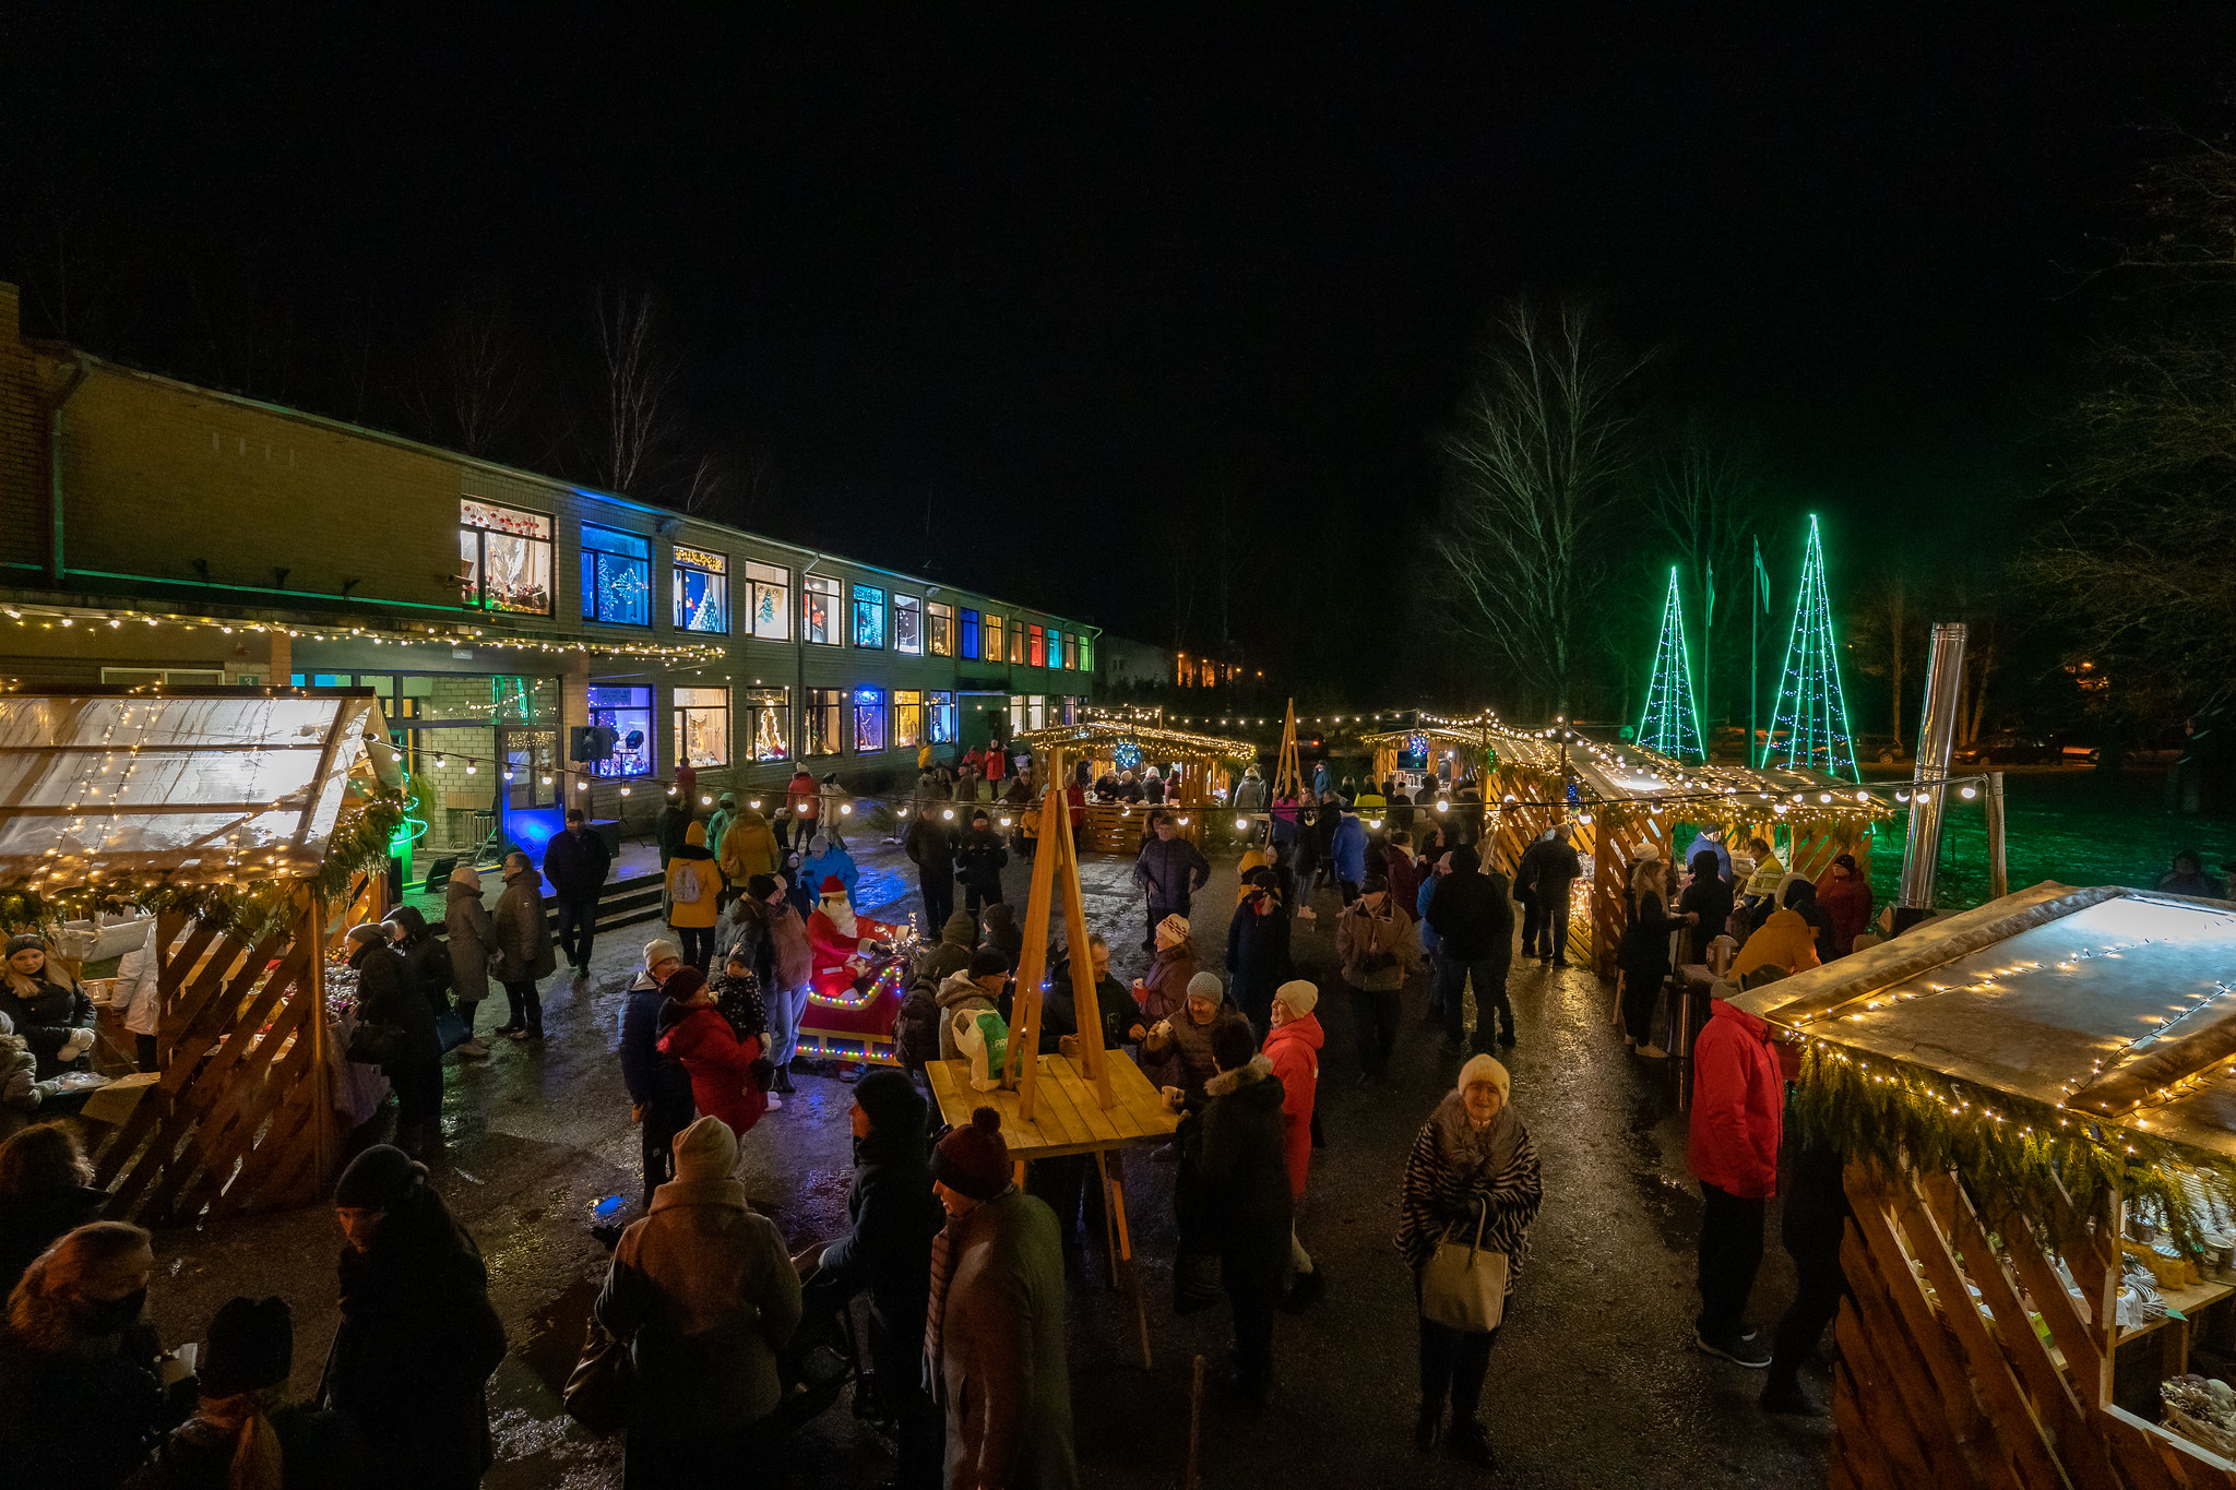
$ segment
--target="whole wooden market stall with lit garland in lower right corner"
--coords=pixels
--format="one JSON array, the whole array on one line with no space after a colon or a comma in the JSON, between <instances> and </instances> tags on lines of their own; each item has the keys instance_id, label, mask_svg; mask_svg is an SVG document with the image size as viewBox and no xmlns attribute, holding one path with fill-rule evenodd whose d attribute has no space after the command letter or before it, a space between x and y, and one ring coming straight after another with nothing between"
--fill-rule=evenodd
<instances>
[{"instance_id":1,"label":"whole wooden market stall with lit garland in lower right corner","mask_svg":"<svg viewBox=\"0 0 2236 1490\"><path fill-rule=\"evenodd\" d=\"M2037 885L1733 994L1847 1159L1836 1490L2236 1486L2232 967L2236 905Z\"/></svg>"}]
</instances>

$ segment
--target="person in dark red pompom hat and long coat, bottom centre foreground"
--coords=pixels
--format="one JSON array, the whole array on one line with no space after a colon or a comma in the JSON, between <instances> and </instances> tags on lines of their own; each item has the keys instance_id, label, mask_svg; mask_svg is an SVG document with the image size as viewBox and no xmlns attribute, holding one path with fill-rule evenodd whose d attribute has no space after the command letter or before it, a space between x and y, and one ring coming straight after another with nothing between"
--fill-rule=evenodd
<instances>
[{"instance_id":1,"label":"person in dark red pompom hat and long coat, bottom centre foreground","mask_svg":"<svg viewBox=\"0 0 2236 1490\"><path fill-rule=\"evenodd\" d=\"M932 1240L923 1356L946 1410L950 1490L1078 1490L1064 1247L1055 1215L1011 1182L1002 1115L977 1108L932 1150L948 1213Z\"/></svg>"}]
</instances>

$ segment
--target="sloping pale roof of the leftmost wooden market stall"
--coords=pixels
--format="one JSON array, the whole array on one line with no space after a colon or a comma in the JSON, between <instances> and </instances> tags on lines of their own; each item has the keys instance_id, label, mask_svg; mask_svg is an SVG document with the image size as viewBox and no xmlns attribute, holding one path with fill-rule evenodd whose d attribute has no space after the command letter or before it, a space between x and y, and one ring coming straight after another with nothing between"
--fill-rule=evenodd
<instances>
[{"instance_id":1,"label":"sloping pale roof of the leftmost wooden market stall","mask_svg":"<svg viewBox=\"0 0 2236 1490\"><path fill-rule=\"evenodd\" d=\"M385 739L371 695L0 697L0 885L309 878Z\"/></svg>"}]
</instances>

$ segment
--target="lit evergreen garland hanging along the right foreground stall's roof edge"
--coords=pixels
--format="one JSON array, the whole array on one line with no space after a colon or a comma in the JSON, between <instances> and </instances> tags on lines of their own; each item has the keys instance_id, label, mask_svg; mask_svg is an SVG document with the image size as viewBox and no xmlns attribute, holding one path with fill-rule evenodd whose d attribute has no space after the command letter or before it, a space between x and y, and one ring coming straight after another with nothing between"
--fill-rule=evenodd
<instances>
[{"instance_id":1,"label":"lit evergreen garland hanging along the right foreground stall's roof edge","mask_svg":"<svg viewBox=\"0 0 2236 1490\"><path fill-rule=\"evenodd\" d=\"M1802 1137L1887 1173L1954 1171L1986 1215L2006 1206L2057 1235L2057 1191L2102 1215L2113 1191L2156 1206L2180 1251L2200 1251L2182 1175L2227 1209L2236 1164L1957 1077L1809 1041L1793 1097Z\"/></svg>"}]
</instances>

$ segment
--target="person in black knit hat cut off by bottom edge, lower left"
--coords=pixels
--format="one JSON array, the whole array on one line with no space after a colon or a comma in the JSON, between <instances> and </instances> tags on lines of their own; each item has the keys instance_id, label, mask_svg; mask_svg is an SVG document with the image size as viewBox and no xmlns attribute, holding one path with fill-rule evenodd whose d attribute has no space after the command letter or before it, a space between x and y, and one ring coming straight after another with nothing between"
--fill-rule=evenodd
<instances>
[{"instance_id":1,"label":"person in black knit hat cut off by bottom edge, lower left","mask_svg":"<svg viewBox=\"0 0 2236 1490\"><path fill-rule=\"evenodd\" d=\"M284 1298L228 1298L210 1318L195 1416L130 1490L367 1490L367 1445L340 1412L288 1405L295 1316Z\"/></svg>"}]
</instances>

